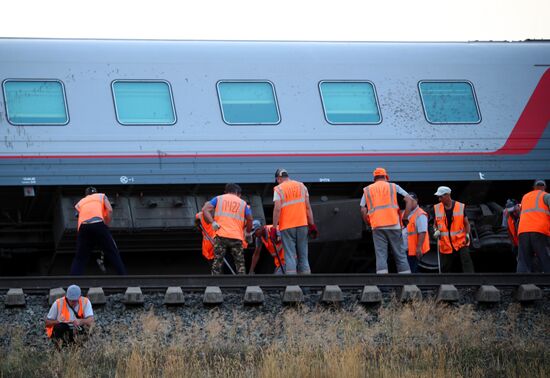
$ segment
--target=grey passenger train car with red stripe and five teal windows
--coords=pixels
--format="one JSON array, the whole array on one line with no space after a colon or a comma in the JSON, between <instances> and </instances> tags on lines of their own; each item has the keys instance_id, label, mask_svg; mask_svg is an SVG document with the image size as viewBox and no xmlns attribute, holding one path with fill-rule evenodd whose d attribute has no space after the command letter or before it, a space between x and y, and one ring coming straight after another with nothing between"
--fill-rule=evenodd
<instances>
[{"instance_id":1,"label":"grey passenger train car with red stripe and five teal windows","mask_svg":"<svg viewBox=\"0 0 550 378\"><path fill-rule=\"evenodd\" d=\"M0 80L0 257L74 252L70 209L87 185L139 250L130 240L190 228L226 182L269 221L284 167L310 187L330 249L364 232L350 209L378 166L408 190L445 183L478 203L550 177L545 41L0 39Z\"/></svg>"}]
</instances>

